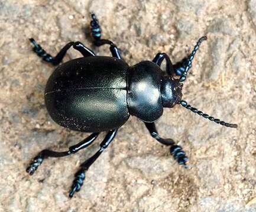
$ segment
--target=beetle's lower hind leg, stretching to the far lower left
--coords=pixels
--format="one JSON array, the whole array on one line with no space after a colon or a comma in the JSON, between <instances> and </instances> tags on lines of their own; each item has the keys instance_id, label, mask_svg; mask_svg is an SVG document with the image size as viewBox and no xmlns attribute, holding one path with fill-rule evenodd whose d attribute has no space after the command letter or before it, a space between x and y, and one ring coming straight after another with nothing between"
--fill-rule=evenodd
<instances>
[{"instance_id":1,"label":"beetle's lower hind leg, stretching to the far lower left","mask_svg":"<svg viewBox=\"0 0 256 212\"><path fill-rule=\"evenodd\" d=\"M52 150L42 150L36 157L34 157L33 161L27 168L27 173L33 175L35 170L37 170L38 166L43 163L43 160L48 157L65 157L70 154L74 154L83 148L88 147L88 145L92 144L93 141L98 137L99 132L93 132L89 135L89 137L85 138L85 140L81 141L80 143L69 147L69 151L63 152L56 152Z\"/></svg>"}]
</instances>

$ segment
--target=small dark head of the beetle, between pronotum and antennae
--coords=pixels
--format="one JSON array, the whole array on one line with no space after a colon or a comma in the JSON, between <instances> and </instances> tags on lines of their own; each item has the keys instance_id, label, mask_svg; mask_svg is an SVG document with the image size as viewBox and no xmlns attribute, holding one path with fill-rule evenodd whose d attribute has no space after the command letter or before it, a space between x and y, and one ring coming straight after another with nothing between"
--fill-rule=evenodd
<instances>
[{"instance_id":1,"label":"small dark head of the beetle, between pronotum and antennae","mask_svg":"<svg viewBox=\"0 0 256 212\"><path fill-rule=\"evenodd\" d=\"M182 100L182 86L179 80L164 76L161 80L161 100L163 107L174 107Z\"/></svg>"}]
</instances>

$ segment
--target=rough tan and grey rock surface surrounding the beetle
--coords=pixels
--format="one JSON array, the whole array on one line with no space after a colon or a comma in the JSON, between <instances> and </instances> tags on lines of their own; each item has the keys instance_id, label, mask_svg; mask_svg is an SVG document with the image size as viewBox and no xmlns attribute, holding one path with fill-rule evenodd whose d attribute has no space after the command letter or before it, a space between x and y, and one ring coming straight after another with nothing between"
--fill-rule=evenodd
<instances>
[{"instance_id":1,"label":"rough tan and grey rock surface surrounding the beetle","mask_svg":"<svg viewBox=\"0 0 256 212\"><path fill-rule=\"evenodd\" d=\"M0 0L0 211L256 211L256 7L255 1ZM182 145L190 168L179 167L169 148L131 117L86 174L71 200L67 191L79 164L98 148L51 158L30 177L25 167L43 148L66 150L88 134L55 124L44 105L53 71L28 38L55 54L69 41L89 37L89 11L101 21L129 64L166 52L173 62L203 42L183 87L183 97L224 128L184 108L164 111L163 137ZM80 57L70 50L65 61ZM163 66L164 68L164 66Z\"/></svg>"}]
</instances>

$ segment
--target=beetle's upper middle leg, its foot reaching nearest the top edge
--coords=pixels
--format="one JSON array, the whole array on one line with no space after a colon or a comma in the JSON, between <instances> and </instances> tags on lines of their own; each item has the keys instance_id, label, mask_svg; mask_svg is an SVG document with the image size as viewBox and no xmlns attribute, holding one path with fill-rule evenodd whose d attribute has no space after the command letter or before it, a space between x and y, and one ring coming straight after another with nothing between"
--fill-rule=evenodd
<instances>
[{"instance_id":1,"label":"beetle's upper middle leg, its foot reaching nearest the top edge","mask_svg":"<svg viewBox=\"0 0 256 212\"><path fill-rule=\"evenodd\" d=\"M116 45L109 41L108 39L101 39L101 26L99 25L99 21L96 18L95 14L91 14L92 21L90 21L90 32L92 34L92 37L95 39L93 42L97 47L100 47L101 45L108 44L110 45L109 50L111 51L111 54L113 57L121 59L121 54L119 52L119 49L116 47Z\"/></svg>"}]
</instances>

